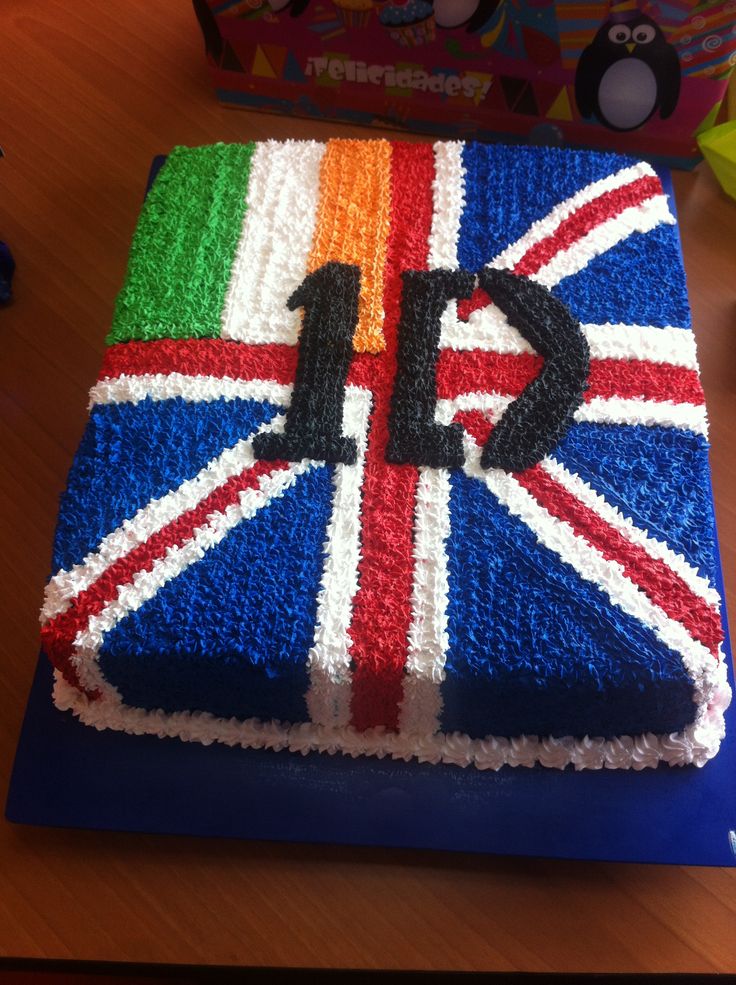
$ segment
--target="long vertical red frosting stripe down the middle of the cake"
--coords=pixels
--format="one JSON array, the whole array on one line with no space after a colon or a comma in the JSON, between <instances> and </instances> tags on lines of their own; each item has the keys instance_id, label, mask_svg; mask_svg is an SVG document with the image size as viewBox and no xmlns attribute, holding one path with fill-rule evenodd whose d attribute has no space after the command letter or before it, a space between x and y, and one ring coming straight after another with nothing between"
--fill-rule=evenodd
<instances>
[{"instance_id":1,"label":"long vertical red frosting stripe down the middle of the cake","mask_svg":"<svg viewBox=\"0 0 736 985\"><path fill-rule=\"evenodd\" d=\"M384 272L386 349L380 356L363 484L360 587L353 605L352 721L398 727L411 625L417 469L387 465L391 388L396 372L401 272L426 269L432 223L434 155L429 144L392 144L391 231Z\"/></svg>"}]
</instances>

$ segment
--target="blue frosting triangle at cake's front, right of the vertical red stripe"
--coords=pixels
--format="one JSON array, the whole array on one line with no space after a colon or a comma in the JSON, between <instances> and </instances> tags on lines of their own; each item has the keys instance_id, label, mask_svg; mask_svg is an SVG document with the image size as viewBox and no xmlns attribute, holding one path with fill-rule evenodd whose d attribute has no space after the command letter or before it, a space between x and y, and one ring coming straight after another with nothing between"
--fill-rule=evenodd
<instances>
[{"instance_id":1,"label":"blue frosting triangle at cake's front, right of the vertical red stripe","mask_svg":"<svg viewBox=\"0 0 736 985\"><path fill-rule=\"evenodd\" d=\"M451 515L444 729L612 736L692 721L679 655L541 546L485 485L455 473Z\"/></svg>"}]
</instances>

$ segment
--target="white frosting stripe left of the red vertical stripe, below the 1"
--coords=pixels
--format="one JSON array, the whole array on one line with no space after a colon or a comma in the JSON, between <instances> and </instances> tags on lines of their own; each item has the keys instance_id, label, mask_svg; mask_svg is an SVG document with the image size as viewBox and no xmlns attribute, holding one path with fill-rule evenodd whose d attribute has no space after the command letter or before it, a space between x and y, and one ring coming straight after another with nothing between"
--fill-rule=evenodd
<instances>
[{"instance_id":1,"label":"white frosting stripe left of the red vertical stripe, below the 1","mask_svg":"<svg viewBox=\"0 0 736 985\"><path fill-rule=\"evenodd\" d=\"M317 595L314 643L309 651L310 687L307 707L319 725L350 721L350 637L353 599L358 590L360 561L360 491L368 442L371 395L348 386L345 390L343 434L355 438L355 465L336 465L332 515L327 525L325 567Z\"/></svg>"}]
</instances>

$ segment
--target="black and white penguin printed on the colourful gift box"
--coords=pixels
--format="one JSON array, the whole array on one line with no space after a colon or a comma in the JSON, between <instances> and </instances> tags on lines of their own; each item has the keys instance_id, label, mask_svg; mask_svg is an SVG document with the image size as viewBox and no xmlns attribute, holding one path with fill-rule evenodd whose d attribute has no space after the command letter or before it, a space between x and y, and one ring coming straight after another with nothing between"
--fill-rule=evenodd
<instances>
[{"instance_id":1,"label":"black and white penguin printed on the colourful gift box","mask_svg":"<svg viewBox=\"0 0 736 985\"><path fill-rule=\"evenodd\" d=\"M583 51L575 73L582 116L610 130L636 130L659 110L671 116L680 95L677 52L636 0L614 0L608 20Z\"/></svg>"}]
</instances>

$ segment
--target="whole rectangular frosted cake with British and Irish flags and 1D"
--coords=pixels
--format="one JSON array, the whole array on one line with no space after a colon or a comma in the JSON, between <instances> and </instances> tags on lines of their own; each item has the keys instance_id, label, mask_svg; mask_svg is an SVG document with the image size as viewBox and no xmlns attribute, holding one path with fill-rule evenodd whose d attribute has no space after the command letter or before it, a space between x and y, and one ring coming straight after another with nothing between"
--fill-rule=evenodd
<instances>
[{"instance_id":1,"label":"whole rectangular frosted cake with British and Irish flags and 1D","mask_svg":"<svg viewBox=\"0 0 736 985\"><path fill-rule=\"evenodd\" d=\"M107 343L41 615L60 709L480 769L716 754L707 422L649 165L176 148Z\"/></svg>"}]
</instances>

